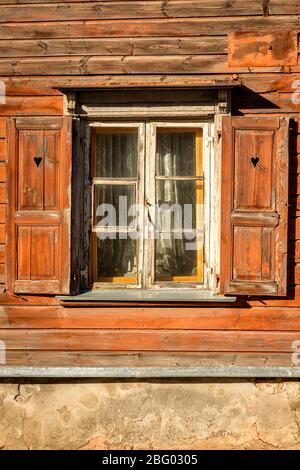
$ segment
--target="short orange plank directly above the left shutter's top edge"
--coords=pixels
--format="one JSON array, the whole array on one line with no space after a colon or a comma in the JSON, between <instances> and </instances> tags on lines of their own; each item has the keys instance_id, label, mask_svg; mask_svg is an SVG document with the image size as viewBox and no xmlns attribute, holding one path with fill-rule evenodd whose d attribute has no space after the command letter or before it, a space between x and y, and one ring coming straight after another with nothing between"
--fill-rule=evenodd
<instances>
[{"instance_id":1,"label":"short orange plank directly above the left shutter's top edge","mask_svg":"<svg viewBox=\"0 0 300 470\"><path fill-rule=\"evenodd\" d=\"M0 105L0 113L7 116L61 116L63 114L62 96L8 96L6 104Z\"/></svg>"}]
</instances>

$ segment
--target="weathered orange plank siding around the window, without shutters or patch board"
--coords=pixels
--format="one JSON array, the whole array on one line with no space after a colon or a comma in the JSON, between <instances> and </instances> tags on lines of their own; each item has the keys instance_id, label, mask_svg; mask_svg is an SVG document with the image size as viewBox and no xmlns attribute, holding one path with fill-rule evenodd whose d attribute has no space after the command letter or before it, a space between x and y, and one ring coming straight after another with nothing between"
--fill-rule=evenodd
<instances>
[{"instance_id":1,"label":"weathered orange plank siding around the window, without shutters or patch board","mask_svg":"<svg viewBox=\"0 0 300 470\"><path fill-rule=\"evenodd\" d=\"M252 298L226 308L64 308L53 297L2 293L0 338L10 350L8 363L290 366L292 342L300 339L300 99L294 94L299 56L295 65L232 66L227 33L300 32L299 2L0 0L0 8L0 80L7 93L6 104L0 104L2 292L5 116L62 116L58 88L64 86L197 86L239 79L243 88L233 93L234 114L287 116L293 127L288 298ZM149 356L151 350L161 354ZM120 351L130 351L122 362Z\"/></svg>"}]
</instances>

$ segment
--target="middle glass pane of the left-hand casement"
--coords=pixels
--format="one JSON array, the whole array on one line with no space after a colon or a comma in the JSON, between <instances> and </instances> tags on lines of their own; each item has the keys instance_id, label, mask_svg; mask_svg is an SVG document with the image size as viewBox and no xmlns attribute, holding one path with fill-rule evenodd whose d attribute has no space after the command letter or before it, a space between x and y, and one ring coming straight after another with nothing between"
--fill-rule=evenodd
<instances>
[{"instance_id":1,"label":"middle glass pane of the left-hand casement","mask_svg":"<svg viewBox=\"0 0 300 470\"><path fill-rule=\"evenodd\" d=\"M94 188L95 225L126 227L133 224L135 186L98 184Z\"/></svg>"}]
</instances>

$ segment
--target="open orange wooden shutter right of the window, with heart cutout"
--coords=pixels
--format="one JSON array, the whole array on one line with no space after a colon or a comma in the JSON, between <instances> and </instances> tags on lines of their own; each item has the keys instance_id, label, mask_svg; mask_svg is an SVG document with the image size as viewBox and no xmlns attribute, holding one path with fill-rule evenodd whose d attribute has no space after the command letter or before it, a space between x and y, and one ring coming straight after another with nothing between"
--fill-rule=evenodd
<instances>
[{"instance_id":1,"label":"open orange wooden shutter right of the window, with heart cutout","mask_svg":"<svg viewBox=\"0 0 300 470\"><path fill-rule=\"evenodd\" d=\"M288 129L285 118L223 118L224 294L286 294Z\"/></svg>"}]
</instances>

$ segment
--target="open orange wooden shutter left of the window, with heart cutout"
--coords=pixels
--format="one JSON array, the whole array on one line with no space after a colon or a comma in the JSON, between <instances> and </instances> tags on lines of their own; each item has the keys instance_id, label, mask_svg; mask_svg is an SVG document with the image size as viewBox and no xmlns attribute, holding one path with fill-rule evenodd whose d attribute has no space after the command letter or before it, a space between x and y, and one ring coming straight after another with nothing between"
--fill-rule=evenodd
<instances>
[{"instance_id":1,"label":"open orange wooden shutter left of the window, with heart cutout","mask_svg":"<svg viewBox=\"0 0 300 470\"><path fill-rule=\"evenodd\" d=\"M71 118L8 119L8 289L70 289Z\"/></svg>"}]
</instances>

